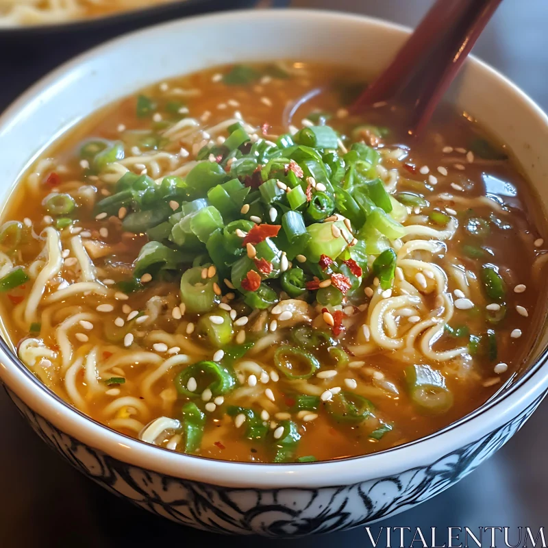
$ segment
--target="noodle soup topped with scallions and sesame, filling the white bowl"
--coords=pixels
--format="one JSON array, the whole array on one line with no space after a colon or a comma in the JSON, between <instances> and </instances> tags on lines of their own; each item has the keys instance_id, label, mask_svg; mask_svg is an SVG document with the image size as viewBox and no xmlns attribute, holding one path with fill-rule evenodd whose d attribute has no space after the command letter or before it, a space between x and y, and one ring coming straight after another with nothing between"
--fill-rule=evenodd
<instances>
[{"instance_id":1,"label":"noodle soup topped with scallions and sesame, filling the white bowl","mask_svg":"<svg viewBox=\"0 0 548 548\"><path fill-rule=\"evenodd\" d=\"M21 361L123 434L244 462L395 447L512 382L545 301L527 181L447 106L421 140L349 113L363 82L222 66L72 131L0 228Z\"/></svg>"}]
</instances>

